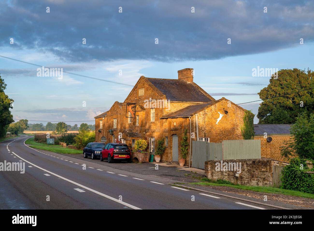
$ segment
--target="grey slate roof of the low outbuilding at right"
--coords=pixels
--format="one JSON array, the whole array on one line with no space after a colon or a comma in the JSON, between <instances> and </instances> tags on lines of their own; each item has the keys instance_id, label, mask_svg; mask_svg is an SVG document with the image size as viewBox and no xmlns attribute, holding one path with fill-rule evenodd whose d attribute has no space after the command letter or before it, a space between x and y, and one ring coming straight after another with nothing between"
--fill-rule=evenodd
<instances>
[{"instance_id":1,"label":"grey slate roof of the low outbuilding at right","mask_svg":"<svg viewBox=\"0 0 314 231\"><path fill-rule=\"evenodd\" d=\"M254 124L255 135L290 135L293 124Z\"/></svg>"}]
</instances>

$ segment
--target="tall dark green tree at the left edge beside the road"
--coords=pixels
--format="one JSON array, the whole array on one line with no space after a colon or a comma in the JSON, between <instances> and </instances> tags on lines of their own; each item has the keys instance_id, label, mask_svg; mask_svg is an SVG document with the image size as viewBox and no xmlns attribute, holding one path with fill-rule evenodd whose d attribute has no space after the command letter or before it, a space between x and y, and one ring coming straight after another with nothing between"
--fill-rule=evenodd
<instances>
[{"instance_id":1,"label":"tall dark green tree at the left edge beside the road","mask_svg":"<svg viewBox=\"0 0 314 231\"><path fill-rule=\"evenodd\" d=\"M13 115L11 114L10 108L13 108L13 99L10 99L8 95L4 93L4 90L7 88L7 85L4 83L4 80L1 79L0 75L0 137L3 137L6 132L9 124L13 123Z\"/></svg>"}]
</instances>

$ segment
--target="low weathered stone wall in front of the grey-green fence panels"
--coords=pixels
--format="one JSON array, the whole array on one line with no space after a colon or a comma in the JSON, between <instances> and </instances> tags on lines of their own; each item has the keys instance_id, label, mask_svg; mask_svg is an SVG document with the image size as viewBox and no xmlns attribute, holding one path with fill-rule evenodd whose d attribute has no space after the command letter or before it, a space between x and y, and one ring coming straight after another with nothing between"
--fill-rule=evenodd
<instances>
[{"instance_id":1,"label":"low weathered stone wall in front of the grey-green fence panels","mask_svg":"<svg viewBox=\"0 0 314 231\"><path fill-rule=\"evenodd\" d=\"M262 159L239 159L239 160L223 160L224 163L238 163L240 167L241 163L241 173L239 173L238 184L240 185L272 185L273 182L273 168L272 160L269 158ZM216 164L216 163L219 163ZM220 168L220 160L210 160L205 162L205 175L208 179L224 179L233 182L235 171L229 171L234 169L228 169L228 171L223 171ZM229 164L228 164L229 167ZM231 165L230 165L231 167ZM218 171L217 171L218 168Z\"/></svg>"}]
</instances>

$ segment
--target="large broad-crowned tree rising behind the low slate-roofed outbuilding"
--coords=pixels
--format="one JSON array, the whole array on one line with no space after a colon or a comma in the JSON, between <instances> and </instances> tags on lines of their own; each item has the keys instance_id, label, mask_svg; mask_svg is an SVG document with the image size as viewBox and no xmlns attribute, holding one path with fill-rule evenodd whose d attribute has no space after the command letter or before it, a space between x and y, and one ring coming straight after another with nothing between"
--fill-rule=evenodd
<instances>
[{"instance_id":1,"label":"large broad-crowned tree rising behind the low slate-roofed outbuilding","mask_svg":"<svg viewBox=\"0 0 314 231\"><path fill-rule=\"evenodd\" d=\"M271 78L267 87L259 93L261 99L290 95L264 100L258 108L259 124L293 124L300 113L314 110L314 72L300 69L283 69L278 79Z\"/></svg>"}]
</instances>

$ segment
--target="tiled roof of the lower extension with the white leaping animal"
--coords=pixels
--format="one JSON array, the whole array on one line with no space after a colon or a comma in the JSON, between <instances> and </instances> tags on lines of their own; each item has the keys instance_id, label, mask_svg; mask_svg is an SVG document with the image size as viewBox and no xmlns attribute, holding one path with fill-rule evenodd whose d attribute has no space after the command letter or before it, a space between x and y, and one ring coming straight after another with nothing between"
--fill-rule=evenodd
<instances>
[{"instance_id":1,"label":"tiled roof of the lower extension with the white leaping animal","mask_svg":"<svg viewBox=\"0 0 314 231\"><path fill-rule=\"evenodd\" d=\"M187 118L190 117L192 115L195 115L203 110L205 110L207 107L211 107L214 104L223 101L223 100L227 100L225 97L222 97L219 100L214 100L212 102L206 102L206 103L198 103L198 104L194 104L194 105L190 105L184 108L179 109L178 111L175 112L171 112L169 114L166 114L162 117L160 117L161 119L167 119L167 118ZM229 100L227 100L229 101ZM231 102L231 104L235 105L236 107L239 107L242 110L245 110L244 108L240 107L239 105L236 105L235 103Z\"/></svg>"}]
</instances>

